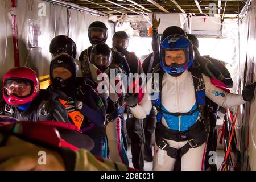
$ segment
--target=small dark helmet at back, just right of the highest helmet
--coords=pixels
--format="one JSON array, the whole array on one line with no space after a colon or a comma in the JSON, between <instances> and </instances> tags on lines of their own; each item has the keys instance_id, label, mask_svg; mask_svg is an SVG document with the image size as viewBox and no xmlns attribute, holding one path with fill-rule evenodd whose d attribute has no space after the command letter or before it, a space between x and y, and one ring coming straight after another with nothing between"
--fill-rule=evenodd
<instances>
[{"instance_id":1,"label":"small dark helmet at back, just right of the highest helmet","mask_svg":"<svg viewBox=\"0 0 256 182\"><path fill-rule=\"evenodd\" d=\"M113 35L113 47L115 48L125 48L127 49L129 43L129 36L125 31L115 32ZM122 46L121 46L122 45Z\"/></svg>"}]
</instances>

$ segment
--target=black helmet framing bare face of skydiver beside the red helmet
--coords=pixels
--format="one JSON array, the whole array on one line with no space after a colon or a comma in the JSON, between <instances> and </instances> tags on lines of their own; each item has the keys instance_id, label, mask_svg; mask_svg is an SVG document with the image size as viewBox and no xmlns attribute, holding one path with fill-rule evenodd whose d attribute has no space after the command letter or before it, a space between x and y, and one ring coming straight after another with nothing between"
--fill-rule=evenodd
<instances>
[{"instance_id":1,"label":"black helmet framing bare face of skydiver beside the red helmet","mask_svg":"<svg viewBox=\"0 0 256 182\"><path fill-rule=\"evenodd\" d=\"M60 77L53 78L53 70L55 68L63 67L68 69L71 72L71 77L67 79L63 79ZM50 64L50 80L54 87L56 88L63 88L70 84L74 84L76 81L76 76L78 72L78 65L76 64L75 59L69 55L59 55L56 56Z\"/></svg>"}]
</instances>

